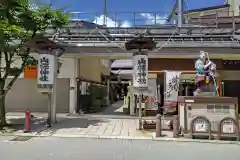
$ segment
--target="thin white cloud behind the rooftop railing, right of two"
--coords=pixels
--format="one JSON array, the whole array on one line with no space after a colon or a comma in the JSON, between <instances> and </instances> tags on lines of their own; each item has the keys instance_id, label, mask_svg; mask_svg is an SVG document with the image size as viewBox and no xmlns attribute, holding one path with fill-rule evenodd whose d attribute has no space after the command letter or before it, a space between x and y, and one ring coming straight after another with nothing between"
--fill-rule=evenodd
<instances>
[{"instance_id":1,"label":"thin white cloud behind the rooftop railing, right of two","mask_svg":"<svg viewBox=\"0 0 240 160\"><path fill-rule=\"evenodd\" d=\"M146 18L146 24L165 24L166 23L166 16L159 16L159 15L152 15L150 13L140 13L140 15L144 18Z\"/></svg>"}]
</instances>

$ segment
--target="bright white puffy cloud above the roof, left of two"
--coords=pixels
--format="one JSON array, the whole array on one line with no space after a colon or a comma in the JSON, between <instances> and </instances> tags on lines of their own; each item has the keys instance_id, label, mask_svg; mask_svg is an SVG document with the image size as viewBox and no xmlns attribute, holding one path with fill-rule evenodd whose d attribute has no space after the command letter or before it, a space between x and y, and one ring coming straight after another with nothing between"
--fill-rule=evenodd
<instances>
[{"instance_id":1,"label":"bright white puffy cloud above the roof, left of two","mask_svg":"<svg viewBox=\"0 0 240 160\"><path fill-rule=\"evenodd\" d=\"M93 21L93 23L103 25L103 21L104 21L104 15L100 15L99 17L95 17L95 20ZM111 19L110 17L106 17L106 25L107 27L131 27L132 23L127 20L124 20L122 22L117 22Z\"/></svg>"}]
</instances>

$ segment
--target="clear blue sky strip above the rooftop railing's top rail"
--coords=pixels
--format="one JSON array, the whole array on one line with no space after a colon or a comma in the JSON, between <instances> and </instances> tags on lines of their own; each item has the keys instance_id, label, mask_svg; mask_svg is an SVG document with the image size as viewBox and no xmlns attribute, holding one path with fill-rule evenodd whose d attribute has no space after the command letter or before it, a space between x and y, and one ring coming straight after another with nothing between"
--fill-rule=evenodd
<instances>
[{"instance_id":1,"label":"clear blue sky strip above the rooftop railing's top rail","mask_svg":"<svg viewBox=\"0 0 240 160\"><path fill-rule=\"evenodd\" d=\"M103 0L52 0L55 7L74 12L102 12ZM151 2L151 3L149 3ZM169 12L175 0L107 0L109 12ZM185 0L187 9L223 4L224 0Z\"/></svg>"}]
</instances>

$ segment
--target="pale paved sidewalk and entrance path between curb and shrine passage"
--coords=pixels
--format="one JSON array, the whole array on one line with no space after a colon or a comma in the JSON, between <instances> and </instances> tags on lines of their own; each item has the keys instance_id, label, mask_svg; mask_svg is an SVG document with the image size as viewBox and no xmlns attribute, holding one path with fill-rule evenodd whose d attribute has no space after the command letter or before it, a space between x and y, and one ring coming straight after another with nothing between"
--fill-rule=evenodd
<instances>
[{"instance_id":1,"label":"pale paved sidewalk and entrance path between curb and shrine passage","mask_svg":"<svg viewBox=\"0 0 240 160\"><path fill-rule=\"evenodd\" d=\"M32 123L32 132L23 133L23 127L14 132L14 135L31 136L56 136L56 137L123 137L135 139L136 137L152 138L151 131L138 131L138 118L124 115L122 112L122 102L118 101L103 112L97 114L87 114L84 116L71 116L58 114L59 123L53 124L51 128L46 128L46 113L33 113L36 123ZM8 119L24 124L24 113L8 113ZM44 118L45 117L45 118ZM23 125L22 125L23 126ZM164 131L165 132L165 131ZM172 134L164 133L167 137Z\"/></svg>"}]
</instances>

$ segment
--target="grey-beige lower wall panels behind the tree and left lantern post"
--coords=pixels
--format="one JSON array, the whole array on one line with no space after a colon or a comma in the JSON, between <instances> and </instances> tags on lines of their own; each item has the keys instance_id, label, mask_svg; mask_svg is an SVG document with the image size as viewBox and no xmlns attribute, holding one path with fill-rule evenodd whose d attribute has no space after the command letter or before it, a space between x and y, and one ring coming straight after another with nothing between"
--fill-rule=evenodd
<instances>
[{"instance_id":1,"label":"grey-beige lower wall panels behind the tree and left lantern post","mask_svg":"<svg viewBox=\"0 0 240 160\"><path fill-rule=\"evenodd\" d=\"M10 81L11 79L8 79ZM69 79L57 79L57 112L69 112ZM37 89L36 79L19 78L6 97L6 110L20 112L29 108L32 112L47 112L48 99Z\"/></svg>"}]
</instances>

